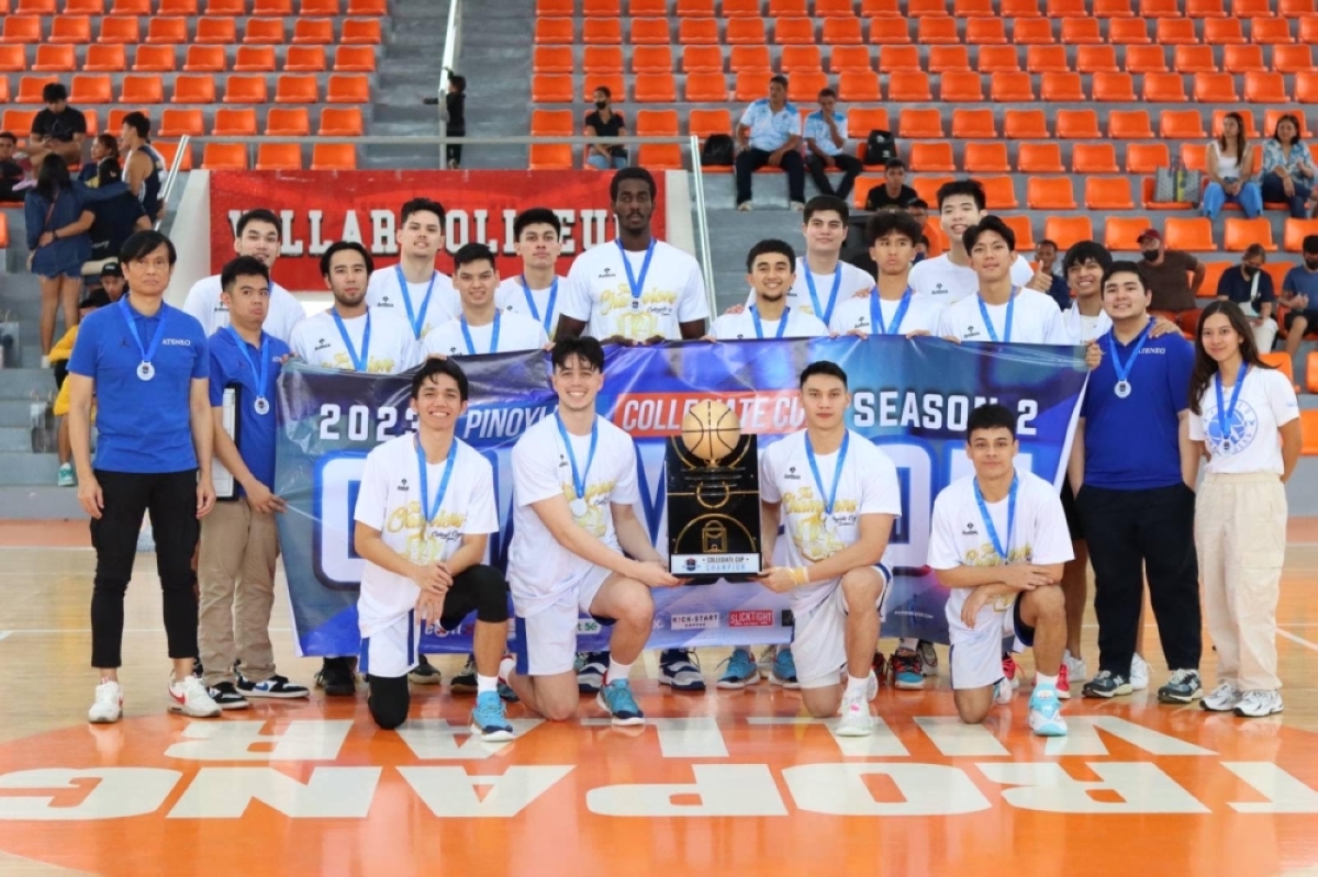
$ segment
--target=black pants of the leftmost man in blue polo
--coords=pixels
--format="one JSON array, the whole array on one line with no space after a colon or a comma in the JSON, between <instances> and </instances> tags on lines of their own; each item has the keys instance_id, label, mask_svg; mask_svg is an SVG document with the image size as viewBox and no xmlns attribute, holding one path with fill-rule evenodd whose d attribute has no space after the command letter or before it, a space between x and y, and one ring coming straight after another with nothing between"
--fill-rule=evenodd
<instances>
[{"instance_id":1,"label":"black pants of the leftmost man in blue polo","mask_svg":"<svg viewBox=\"0 0 1318 877\"><path fill-rule=\"evenodd\" d=\"M196 593L192 552L196 520L196 470L138 474L96 470L105 507L91 521L96 582L91 594L91 665L123 664L124 593L133 575L142 515L150 514L156 570L165 591L165 635L171 658L196 657Z\"/></svg>"}]
</instances>

